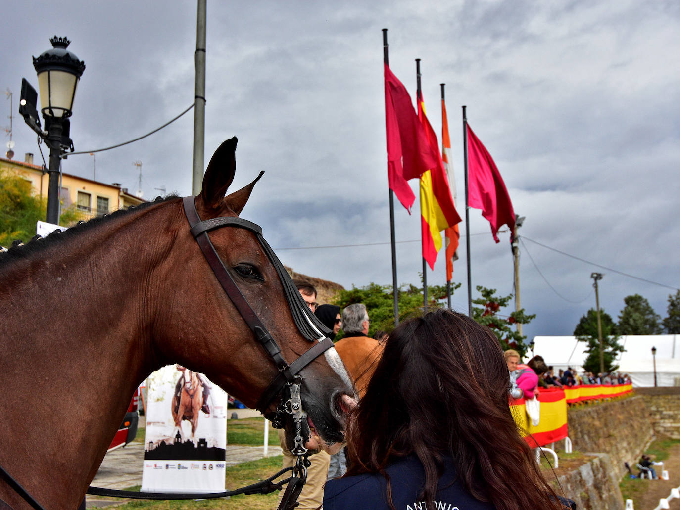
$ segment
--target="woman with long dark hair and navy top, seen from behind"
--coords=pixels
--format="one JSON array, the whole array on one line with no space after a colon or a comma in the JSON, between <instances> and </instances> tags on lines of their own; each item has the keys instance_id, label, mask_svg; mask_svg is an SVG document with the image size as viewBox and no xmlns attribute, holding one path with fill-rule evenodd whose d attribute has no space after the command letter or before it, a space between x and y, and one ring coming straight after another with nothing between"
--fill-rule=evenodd
<instances>
[{"instance_id":1,"label":"woman with long dark hair and navy top, seen from behind","mask_svg":"<svg viewBox=\"0 0 680 510\"><path fill-rule=\"evenodd\" d=\"M562 509L508 390L486 326L444 309L403 322L347 422L351 466L326 483L324 509Z\"/></svg>"}]
</instances>

